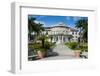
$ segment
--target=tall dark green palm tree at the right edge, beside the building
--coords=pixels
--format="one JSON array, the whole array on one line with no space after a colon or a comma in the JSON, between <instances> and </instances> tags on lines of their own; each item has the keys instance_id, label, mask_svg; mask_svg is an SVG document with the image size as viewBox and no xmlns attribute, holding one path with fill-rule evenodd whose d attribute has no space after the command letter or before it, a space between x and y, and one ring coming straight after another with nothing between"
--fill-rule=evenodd
<instances>
[{"instance_id":1,"label":"tall dark green palm tree at the right edge, beside the building","mask_svg":"<svg viewBox=\"0 0 100 76\"><path fill-rule=\"evenodd\" d=\"M87 42L87 32L88 32L88 20L87 19L80 19L76 22L76 28L80 29L80 38L83 39L83 41ZM81 37L82 35L82 37Z\"/></svg>"}]
</instances>

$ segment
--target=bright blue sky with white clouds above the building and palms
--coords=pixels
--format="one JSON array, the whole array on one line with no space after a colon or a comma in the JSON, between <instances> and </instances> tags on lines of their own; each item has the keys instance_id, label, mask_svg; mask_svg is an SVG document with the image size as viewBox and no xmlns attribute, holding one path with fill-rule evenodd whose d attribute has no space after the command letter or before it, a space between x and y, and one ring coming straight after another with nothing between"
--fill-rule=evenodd
<instances>
[{"instance_id":1,"label":"bright blue sky with white clouds above the building and palms","mask_svg":"<svg viewBox=\"0 0 100 76\"><path fill-rule=\"evenodd\" d=\"M76 21L79 19L88 19L88 17L80 16L47 16L47 15L29 15L28 18L35 17L36 23L42 23L45 27L53 26L59 22L64 23L66 26L74 27Z\"/></svg>"}]
</instances>

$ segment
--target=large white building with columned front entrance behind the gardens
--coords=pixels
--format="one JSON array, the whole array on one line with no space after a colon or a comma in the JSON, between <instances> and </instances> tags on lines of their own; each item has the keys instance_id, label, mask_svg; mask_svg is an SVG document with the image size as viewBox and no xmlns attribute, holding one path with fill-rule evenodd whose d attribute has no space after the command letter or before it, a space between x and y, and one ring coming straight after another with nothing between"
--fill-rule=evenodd
<instances>
[{"instance_id":1,"label":"large white building with columned front entrance behind the gardens","mask_svg":"<svg viewBox=\"0 0 100 76\"><path fill-rule=\"evenodd\" d=\"M49 41L56 42L56 44L77 42L79 38L79 31L77 29L68 27L62 22L52 27L45 27L45 31L42 33L49 37Z\"/></svg>"}]
</instances>

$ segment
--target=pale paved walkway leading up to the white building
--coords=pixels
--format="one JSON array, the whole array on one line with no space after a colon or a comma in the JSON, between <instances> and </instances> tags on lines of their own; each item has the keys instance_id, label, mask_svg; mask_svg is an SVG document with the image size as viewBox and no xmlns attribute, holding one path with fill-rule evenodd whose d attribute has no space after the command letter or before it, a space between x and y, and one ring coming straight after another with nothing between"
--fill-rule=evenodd
<instances>
[{"instance_id":1,"label":"pale paved walkway leading up to the white building","mask_svg":"<svg viewBox=\"0 0 100 76\"><path fill-rule=\"evenodd\" d=\"M41 60L76 59L74 56L74 51L64 44L56 45L56 47L53 49L53 52L58 53L58 56L47 57Z\"/></svg>"}]
</instances>

